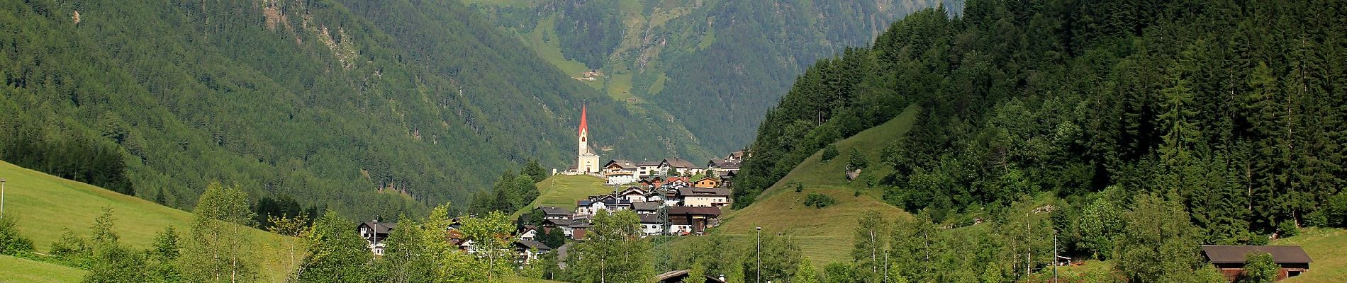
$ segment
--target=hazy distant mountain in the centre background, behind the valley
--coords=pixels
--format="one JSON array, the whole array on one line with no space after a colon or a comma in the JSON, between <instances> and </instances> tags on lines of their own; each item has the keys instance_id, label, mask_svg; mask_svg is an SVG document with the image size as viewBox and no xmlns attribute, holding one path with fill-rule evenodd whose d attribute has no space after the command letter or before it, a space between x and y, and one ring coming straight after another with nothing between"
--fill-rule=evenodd
<instances>
[{"instance_id":1,"label":"hazy distant mountain in the centre background, behind the valley","mask_svg":"<svg viewBox=\"0 0 1347 283\"><path fill-rule=\"evenodd\" d=\"M713 152L744 149L818 58L866 46L894 19L962 1L463 0L633 111L682 121Z\"/></svg>"}]
</instances>

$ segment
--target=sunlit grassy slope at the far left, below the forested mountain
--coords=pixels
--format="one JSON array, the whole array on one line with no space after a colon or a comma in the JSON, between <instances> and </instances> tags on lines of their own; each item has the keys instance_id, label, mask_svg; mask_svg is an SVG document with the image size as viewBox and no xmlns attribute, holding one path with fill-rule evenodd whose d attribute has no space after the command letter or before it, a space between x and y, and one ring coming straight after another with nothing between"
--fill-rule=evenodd
<instances>
[{"instance_id":1,"label":"sunlit grassy slope at the far left, below the forested mountain","mask_svg":"<svg viewBox=\"0 0 1347 283\"><path fill-rule=\"evenodd\" d=\"M28 170L8 162L0 162L0 177L7 180L5 215L19 217L19 232L32 239L40 252L48 251L51 243L61 239L63 229L71 229L88 237L89 225L93 224L94 217L102 213L104 208L113 209L113 217L116 217L113 231L121 236L121 243L137 249L150 248L155 233L170 225L175 227L179 235L186 236L193 220L193 215L189 212ZM249 231L252 231L257 245L257 262L264 270L263 279L280 282L288 268L280 264L282 252L273 245L295 239L259 229ZM12 271L12 268L11 264L0 264L0 275Z\"/></svg>"}]
</instances>

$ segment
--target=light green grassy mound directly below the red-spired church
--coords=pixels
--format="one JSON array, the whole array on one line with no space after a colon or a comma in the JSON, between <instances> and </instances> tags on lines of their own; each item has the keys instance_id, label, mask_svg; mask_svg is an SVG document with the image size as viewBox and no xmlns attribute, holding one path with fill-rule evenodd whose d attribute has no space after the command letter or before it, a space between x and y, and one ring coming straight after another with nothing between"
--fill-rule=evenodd
<instances>
[{"instance_id":1,"label":"light green grassy mound directly below the red-spired church","mask_svg":"<svg viewBox=\"0 0 1347 283\"><path fill-rule=\"evenodd\" d=\"M552 176L537 182L537 199L528 207L520 208L512 217L537 207L558 207L575 209L575 201L587 196L612 193L613 186L603 184L602 178L594 176Z\"/></svg>"}]
</instances>

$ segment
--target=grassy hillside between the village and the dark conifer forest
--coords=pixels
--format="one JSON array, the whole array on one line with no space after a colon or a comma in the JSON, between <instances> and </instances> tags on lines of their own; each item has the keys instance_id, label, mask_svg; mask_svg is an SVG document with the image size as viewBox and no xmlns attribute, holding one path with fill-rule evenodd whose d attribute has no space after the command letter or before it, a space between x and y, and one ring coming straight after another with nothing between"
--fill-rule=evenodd
<instances>
[{"instance_id":1,"label":"grassy hillside between the village and the dark conifer forest","mask_svg":"<svg viewBox=\"0 0 1347 283\"><path fill-rule=\"evenodd\" d=\"M806 158L781 181L768 188L757 203L727 213L718 229L726 235L752 236L756 227L762 227L768 233L789 235L816 266L850 260L857 219L865 211L880 211L888 219L908 215L885 204L878 189L862 189L861 196L854 196L855 184L847 182L843 174L846 153L858 149L872 164L877 164L884 148L912 127L916 113L916 107L908 107L884 125L836 142L843 154L828 162L820 161L820 153ZM803 192L795 192L796 182L804 185ZM804 196L810 193L824 193L838 203L822 209L804 207Z\"/></svg>"}]
</instances>

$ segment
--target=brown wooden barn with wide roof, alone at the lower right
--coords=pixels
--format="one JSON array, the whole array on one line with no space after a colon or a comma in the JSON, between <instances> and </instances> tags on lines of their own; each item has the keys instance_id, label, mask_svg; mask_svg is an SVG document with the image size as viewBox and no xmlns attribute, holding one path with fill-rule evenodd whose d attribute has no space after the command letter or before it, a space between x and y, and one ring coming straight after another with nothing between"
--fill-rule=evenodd
<instances>
[{"instance_id":1,"label":"brown wooden barn with wide roof, alone at the lower right","mask_svg":"<svg viewBox=\"0 0 1347 283\"><path fill-rule=\"evenodd\" d=\"M1270 253L1273 262L1281 266L1277 280L1309 271L1309 255L1297 245L1202 245L1203 256L1230 282L1235 282L1243 274L1245 256L1255 252Z\"/></svg>"}]
</instances>

